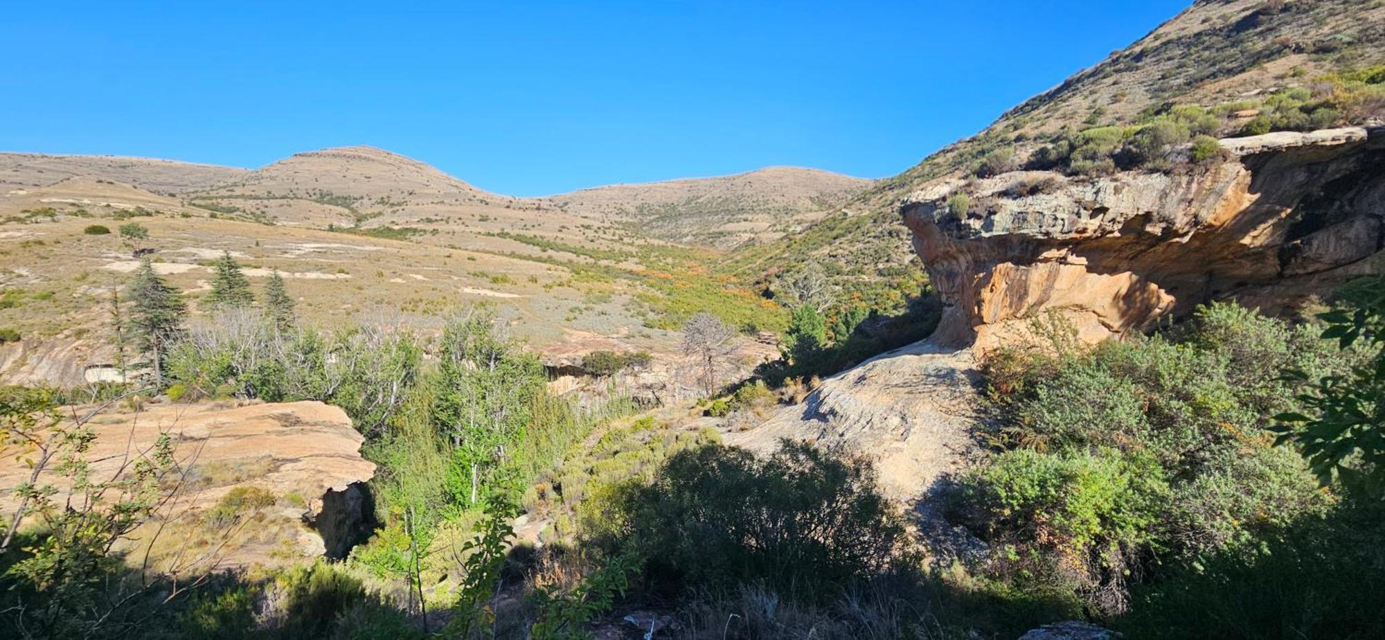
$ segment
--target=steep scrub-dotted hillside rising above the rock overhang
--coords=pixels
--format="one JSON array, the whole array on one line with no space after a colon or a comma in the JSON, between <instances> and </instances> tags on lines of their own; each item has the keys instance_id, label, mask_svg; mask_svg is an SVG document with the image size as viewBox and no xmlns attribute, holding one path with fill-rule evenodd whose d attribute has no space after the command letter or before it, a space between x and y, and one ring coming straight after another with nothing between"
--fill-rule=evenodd
<instances>
[{"instance_id":1,"label":"steep scrub-dotted hillside rising above the rock overhang","mask_svg":"<svg viewBox=\"0 0 1385 640\"><path fill-rule=\"evenodd\" d=\"M975 176L983 159L1011 165L1000 169L1022 166L1065 134L1112 134L1105 127L1127 134L1126 129L1177 105L1213 111L1219 122L1209 133L1219 137L1266 125L1258 122L1260 116L1274 121L1267 123L1271 129L1285 123L1301 130L1359 125L1367 115L1338 111L1332 116L1324 111L1312 121L1313 114L1303 107L1313 107L1343 75L1382 62L1385 3L1197 1L1132 46L1011 109L976 136L877 181L843 205L859 215L831 216L802 234L747 248L733 263L748 277L783 277L810 262L845 278L881 272L891 277L895 269L917 263L910 235L899 224L900 202L938 180ZM1295 90L1299 94L1285 96ZM1361 107L1370 107L1368 101ZM1289 111L1294 114L1285 115Z\"/></svg>"}]
</instances>

